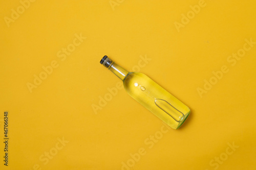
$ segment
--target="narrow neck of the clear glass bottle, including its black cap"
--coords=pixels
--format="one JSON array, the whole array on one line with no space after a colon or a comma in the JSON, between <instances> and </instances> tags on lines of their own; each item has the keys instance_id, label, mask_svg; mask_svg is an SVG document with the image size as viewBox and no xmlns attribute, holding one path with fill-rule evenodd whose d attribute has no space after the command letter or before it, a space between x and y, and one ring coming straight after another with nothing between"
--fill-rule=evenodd
<instances>
[{"instance_id":1,"label":"narrow neck of the clear glass bottle, including its black cap","mask_svg":"<svg viewBox=\"0 0 256 170\"><path fill-rule=\"evenodd\" d=\"M115 62L113 62L110 58L106 57L104 59L104 61L102 62L102 64L109 68L109 70L111 70L117 77L119 77L119 79L121 79L122 81L124 80L124 78L127 76L127 74L129 73L129 71L125 70L124 68L122 68L120 65L116 64Z\"/></svg>"}]
</instances>

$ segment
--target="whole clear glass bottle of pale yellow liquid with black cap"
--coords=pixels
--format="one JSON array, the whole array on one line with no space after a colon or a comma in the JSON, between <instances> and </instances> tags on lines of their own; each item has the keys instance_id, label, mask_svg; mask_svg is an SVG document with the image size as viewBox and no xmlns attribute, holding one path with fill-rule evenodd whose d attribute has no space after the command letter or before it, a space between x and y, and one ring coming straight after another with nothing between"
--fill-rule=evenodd
<instances>
[{"instance_id":1,"label":"whole clear glass bottle of pale yellow liquid with black cap","mask_svg":"<svg viewBox=\"0 0 256 170\"><path fill-rule=\"evenodd\" d=\"M109 68L123 81L124 89L142 106L150 110L173 129L178 129L190 109L168 91L141 72L129 72L104 56L100 64Z\"/></svg>"}]
</instances>

